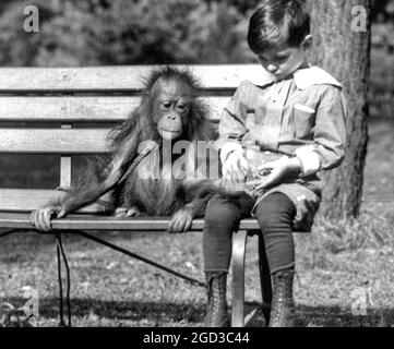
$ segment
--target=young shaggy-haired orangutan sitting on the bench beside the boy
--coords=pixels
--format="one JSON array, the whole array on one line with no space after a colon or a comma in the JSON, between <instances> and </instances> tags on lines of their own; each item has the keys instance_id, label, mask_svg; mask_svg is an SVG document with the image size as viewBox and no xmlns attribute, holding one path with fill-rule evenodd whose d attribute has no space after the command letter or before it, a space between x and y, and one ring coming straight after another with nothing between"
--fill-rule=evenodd
<instances>
[{"instance_id":1,"label":"young shaggy-haired orangutan sitting on the bench beside the boy","mask_svg":"<svg viewBox=\"0 0 394 349\"><path fill-rule=\"evenodd\" d=\"M187 71L166 68L153 72L140 106L110 134L112 157L102 179L89 180L60 202L34 210L31 220L35 228L50 231L52 218L105 201L117 216L172 216L169 232L190 229L192 219L204 213L212 192L201 195L201 185L207 181L177 179L172 168L180 154L163 152L166 142L172 146L179 141L192 144L211 139L211 123L198 93L199 85ZM154 169L158 177L152 176L152 156L146 156L153 152L159 153Z\"/></svg>"}]
</instances>

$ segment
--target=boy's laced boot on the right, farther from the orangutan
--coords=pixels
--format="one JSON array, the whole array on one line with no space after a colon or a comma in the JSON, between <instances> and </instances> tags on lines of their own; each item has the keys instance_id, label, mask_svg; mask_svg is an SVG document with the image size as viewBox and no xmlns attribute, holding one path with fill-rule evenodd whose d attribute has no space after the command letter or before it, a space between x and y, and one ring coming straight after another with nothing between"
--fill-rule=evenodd
<instances>
[{"instance_id":1,"label":"boy's laced boot on the right, farther from the orangutan","mask_svg":"<svg viewBox=\"0 0 394 349\"><path fill-rule=\"evenodd\" d=\"M273 275L273 300L268 327L296 327L296 310L292 300L294 272Z\"/></svg>"}]
</instances>

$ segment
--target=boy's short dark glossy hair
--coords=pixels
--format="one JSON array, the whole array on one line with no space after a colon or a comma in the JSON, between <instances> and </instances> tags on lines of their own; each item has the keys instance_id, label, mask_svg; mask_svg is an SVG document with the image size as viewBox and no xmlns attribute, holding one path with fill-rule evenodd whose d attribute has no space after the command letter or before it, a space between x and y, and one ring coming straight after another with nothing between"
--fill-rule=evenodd
<instances>
[{"instance_id":1,"label":"boy's short dark glossy hair","mask_svg":"<svg viewBox=\"0 0 394 349\"><path fill-rule=\"evenodd\" d=\"M298 47L309 33L305 0L262 0L249 21L248 44L259 55L283 44Z\"/></svg>"}]
</instances>

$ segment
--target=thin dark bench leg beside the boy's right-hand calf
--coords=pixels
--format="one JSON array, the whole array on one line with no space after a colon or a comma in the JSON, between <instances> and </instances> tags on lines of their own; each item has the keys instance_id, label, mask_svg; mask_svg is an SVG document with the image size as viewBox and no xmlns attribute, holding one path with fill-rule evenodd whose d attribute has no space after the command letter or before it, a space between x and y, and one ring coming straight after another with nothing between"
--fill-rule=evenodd
<instances>
[{"instance_id":1,"label":"thin dark bench leg beside the boy's right-hand calf","mask_svg":"<svg viewBox=\"0 0 394 349\"><path fill-rule=\"evenodd\" d=\"M272 302L272 281L268 260L266 258L264 237L259 234L259 269L260 285L263 299L263 315L265 324L270 323L271 302Z\"/></svg>"}]
</instances>

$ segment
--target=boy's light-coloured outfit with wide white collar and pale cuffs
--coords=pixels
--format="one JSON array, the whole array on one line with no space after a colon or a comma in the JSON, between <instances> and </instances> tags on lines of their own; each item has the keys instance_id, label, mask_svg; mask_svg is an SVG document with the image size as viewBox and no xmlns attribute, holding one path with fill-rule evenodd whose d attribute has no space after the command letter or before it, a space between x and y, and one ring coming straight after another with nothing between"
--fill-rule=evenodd
<instances>
[{"instance_id":1,"label":"boy's light-coloured outfit with wide white collar and pale cuffs","mask_svg":"<svg viewBox=\"0 0 394 349\"><path fill-rule=\"evenodd\" d=\"M313 219L321 195L315 173L339 166L345 156L345 113L342 85L317 67L298 70L277 83L256 86L246 81L223 111L216 146L222 160L232 151L248 149L250 167L283 154L297 156L302 165L300 179L273 188L258 203L273 191L284 192L298 205L298 216L302 216L298 218ZM299 229L302 226L295 224Z\"/></svg>"}]
</instances>

